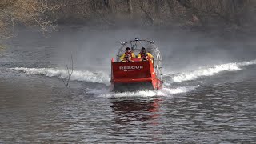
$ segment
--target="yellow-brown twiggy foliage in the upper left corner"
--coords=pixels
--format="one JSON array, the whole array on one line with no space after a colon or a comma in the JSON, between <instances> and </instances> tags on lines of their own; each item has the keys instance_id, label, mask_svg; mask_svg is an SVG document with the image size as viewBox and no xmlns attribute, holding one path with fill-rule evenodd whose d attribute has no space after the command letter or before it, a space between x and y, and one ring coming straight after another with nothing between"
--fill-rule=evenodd
<instances>
[{"instance_id":1,"label":"yellow-brown twiggy foliage in the upper left corner","mask_svg":"<svg viewBox=\"0 0 256 144\"><path fill-rule=\"evenodd\" d=\"M3 0L0 2L0 35L8 37L16 25L39 26L44 34L56 30L51 14L63 5L50 5L47 0Z\"/></svg>"}]
</instances>

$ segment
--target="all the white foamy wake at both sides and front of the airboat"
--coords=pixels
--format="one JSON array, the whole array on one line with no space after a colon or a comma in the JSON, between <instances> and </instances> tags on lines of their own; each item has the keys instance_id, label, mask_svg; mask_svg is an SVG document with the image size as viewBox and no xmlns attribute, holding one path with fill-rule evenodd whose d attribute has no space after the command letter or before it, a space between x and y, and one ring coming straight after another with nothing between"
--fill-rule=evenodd
<instances>
[{"instance_id":1,"label":"all the white foamy wake at both sides and front of the airboat","mask_svg":"<svg viewBox=\"0 0 256 144\"><path fill-rule=\"evenodd\" d=\"M152 91L152 90L142 90L137 92L123 92L123 93L113 93L109 90L87 90L87 93L98 95L99 97L129 97L129 96L142 96L142 97L153 97L153 96L170 96L173 94L187 93L191 90L196 89L198 86L179 86L172 87L174 82L184 82L191 81L203 76L211 76L218 74L222 71L238 71L242 70L243 66L255 65L256 59L252 61L245 62L234 62L226 63L222 65L207 66L205 68L199 68L198 70L184 72L179 74L166 74L164 76L165 87L162 90ZM15 67L8 70L17 70L25 74L40 74L46 77L58 77L67 78L67 70L58 68L26 68L26 67ZM110 75L106 72L91 72L88 70L74 70L72 76L70 77L72 81L81 82L94 82L102 83L106 86L110 86Z\"/></svg>"}]
</instances>

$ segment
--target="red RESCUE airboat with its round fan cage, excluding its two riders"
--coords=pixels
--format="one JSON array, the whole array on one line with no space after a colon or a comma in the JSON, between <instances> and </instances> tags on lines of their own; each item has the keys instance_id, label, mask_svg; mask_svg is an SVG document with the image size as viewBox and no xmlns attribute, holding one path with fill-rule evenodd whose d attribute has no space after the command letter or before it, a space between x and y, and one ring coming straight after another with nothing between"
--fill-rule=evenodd
<instances>
[{"instance_id":1,"label":"red RESCUE airboat with its round fan cage, excluding its two riders","mask_svg":"<svg viewBox=\"0 0 256 144\"><path fill-rule=\"evenodd\" d=\"M154 41L135 38L128 42L121 42L116 58L111 60L111 88L114 91L159 90L162 88L162 58ZM120 62L126 47L137 55L141 48L154 58L131 58L130 62Z\"/></svg>"}]
</instances>

